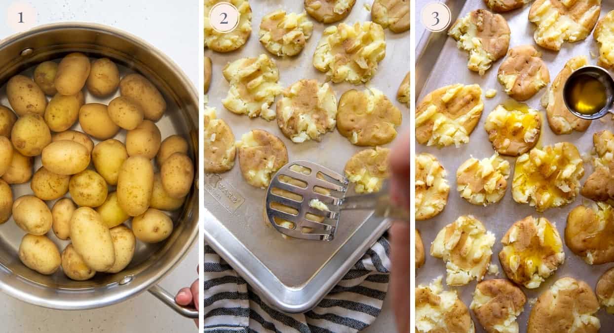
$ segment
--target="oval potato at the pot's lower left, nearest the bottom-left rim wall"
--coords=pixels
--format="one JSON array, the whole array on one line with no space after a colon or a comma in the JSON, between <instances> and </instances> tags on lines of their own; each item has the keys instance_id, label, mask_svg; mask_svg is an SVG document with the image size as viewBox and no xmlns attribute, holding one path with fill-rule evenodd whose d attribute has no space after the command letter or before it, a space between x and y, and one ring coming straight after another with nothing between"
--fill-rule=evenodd
<instances>
[{"instance_id":1,"label":"oval potato at the pot's lower left, nearest the bottom-left rim wall","mask_svg":"<svg viewBox=\"0 0 614 333\"><path fill-rule=\"evenodd\" d=\"M51 275L60 268L60 250L47 236L26 234L19 245L19 259L29 269Z\"/></svg>"}]
</instances>

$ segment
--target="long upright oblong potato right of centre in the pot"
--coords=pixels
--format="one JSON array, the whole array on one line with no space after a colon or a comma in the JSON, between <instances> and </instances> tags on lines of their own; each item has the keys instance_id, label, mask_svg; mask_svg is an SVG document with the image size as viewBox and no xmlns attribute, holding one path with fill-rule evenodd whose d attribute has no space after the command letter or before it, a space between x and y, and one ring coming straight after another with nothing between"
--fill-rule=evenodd
<instances>
[{"instance_id":1,"label":"long upright oblong potato right of centre in the pot","mask_svg":"<svg viewBox=\"0 0 614 333\"><path fill-rule=\"evenodd\" d=\"M117 201L130 216L138 216L149 207L153 191L153 166L143 156L131 156L122 164L117 178Z\"/></svg>"}]
</instances>

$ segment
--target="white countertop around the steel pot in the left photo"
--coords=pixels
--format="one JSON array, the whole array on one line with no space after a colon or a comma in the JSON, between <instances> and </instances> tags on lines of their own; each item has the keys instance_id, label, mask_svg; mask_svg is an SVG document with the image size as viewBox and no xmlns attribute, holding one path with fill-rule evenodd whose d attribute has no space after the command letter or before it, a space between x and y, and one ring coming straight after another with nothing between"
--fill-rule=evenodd
<instances>
[{"instance_id":1,"label":"white countertop around the steel pot in the left photo","mask_svg":"<svg viewBox=\"0 0 614 333\"><path fill-rule=\"evenodd\" d=\"M173 59L198 82L198 1L195 0L3 0L0 39L17 33L7 17L9 6L25 2L36 11L36 24L85 21L111 25L146 40ZM190 286L196 275L195 247L160 285L171 293ZM0 293L0 332L195 332L192 320L177 315L149 293L98 310L58 311L36 307Z\"/></svg>"}]
</instances>

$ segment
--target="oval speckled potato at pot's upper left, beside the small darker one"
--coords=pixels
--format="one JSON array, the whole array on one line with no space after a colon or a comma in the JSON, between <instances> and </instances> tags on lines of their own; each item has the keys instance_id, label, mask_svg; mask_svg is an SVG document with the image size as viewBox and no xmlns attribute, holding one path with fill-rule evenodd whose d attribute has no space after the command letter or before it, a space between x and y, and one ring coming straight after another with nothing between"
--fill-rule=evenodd
<instances>
[{"instance_id":1,"label":"oval speckled potato at pot's upper left, beside the small darker one","mask_svg":"<svg viewBox=\"0 0 614 333\"><path fill-rule=\"evenodd\" d=\"M6 96L10 107L19 117L26 113L43 115L47 107L47 98L33 80L23 75L15 75L6 84Z\"/></svg>"}]
</instances>

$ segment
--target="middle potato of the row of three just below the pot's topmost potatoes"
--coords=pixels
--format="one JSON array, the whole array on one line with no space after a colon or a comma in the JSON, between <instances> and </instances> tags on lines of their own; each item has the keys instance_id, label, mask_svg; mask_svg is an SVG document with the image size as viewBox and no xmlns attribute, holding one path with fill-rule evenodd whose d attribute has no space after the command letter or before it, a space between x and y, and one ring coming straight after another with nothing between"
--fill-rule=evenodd
<instances>
[{"instance_id":1,"label":"middle potato of the row of three just below the pot's topmost potatoes","mask_svg":"<svg viewBox=\"0 0 614 333\"><path fill-rule=\"evenodd\" d=\"M79 110L79 124L84 132L98 140L110 139L117 134L117 126L109 117L107 105L88 103Z\"/></svg>"}]
</instances>

